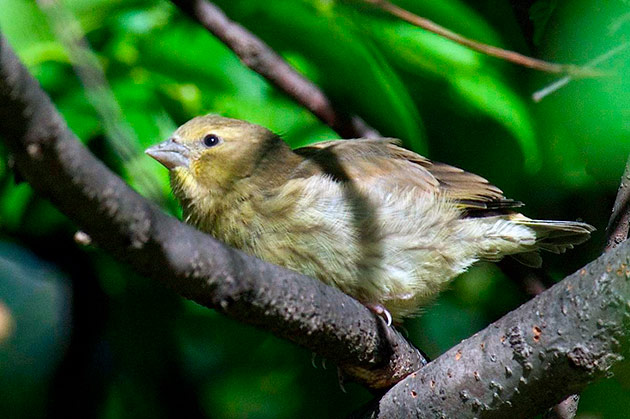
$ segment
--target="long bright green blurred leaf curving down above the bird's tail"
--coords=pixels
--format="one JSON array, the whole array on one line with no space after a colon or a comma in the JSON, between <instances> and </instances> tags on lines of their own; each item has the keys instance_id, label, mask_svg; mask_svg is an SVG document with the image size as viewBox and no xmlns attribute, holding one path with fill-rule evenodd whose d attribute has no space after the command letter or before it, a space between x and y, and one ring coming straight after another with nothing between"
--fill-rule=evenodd
<instances>
[{"instance_id":1,"label":"long bright green blurred leaf curving down above the bird's tail","mask_svg":"<svg viewBox=\"0 0 630 419\"><path fill-rule=\"evenodd\" d=\"M389 61L409 74L409 83L443 81L455 101L494 119L514 136L528 171L540 168L527 106L484 56L405 22L374 16L364 16L363 22Z\"/></svg>"}]
</instances>

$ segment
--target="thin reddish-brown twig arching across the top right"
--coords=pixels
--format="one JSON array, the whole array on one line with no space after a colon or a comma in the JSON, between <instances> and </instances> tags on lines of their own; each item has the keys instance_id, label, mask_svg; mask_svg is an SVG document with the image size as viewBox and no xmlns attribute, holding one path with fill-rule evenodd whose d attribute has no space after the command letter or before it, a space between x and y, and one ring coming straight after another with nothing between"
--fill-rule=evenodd
<instances>
[{"instance_id":1,"label":"thin reddish-brown twig arching across the top right","mask_svg":"<svg viewBox=\"0 0 630 419\"><path fill-rule=\"evenodd\" d=\"M543 61L537 58L528 57L523 54L519 54L515 51L509 51L503 48L495 47L492 45L477 42L472 39L466 38L458 33L455 33L437 23L429 20L425 17L418 16L410 11L396 6L387 0L362 0L364 3L374 5L375 7L383 10L384 12L396 16L405 22L411 23L414 26L425 29L431 33L439 35L443 38L456 42L473 51L480 52L491 57L499 58L501 60L509 61L514 64L518 64L523 67L531 68L534 70L544 71L547 73L555 74L572 74L575 77L594 77L599 73L589 68L581 68L572 64L557 64Z\"/></svg>"}]
</instances>

